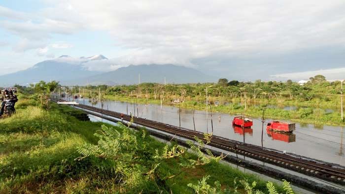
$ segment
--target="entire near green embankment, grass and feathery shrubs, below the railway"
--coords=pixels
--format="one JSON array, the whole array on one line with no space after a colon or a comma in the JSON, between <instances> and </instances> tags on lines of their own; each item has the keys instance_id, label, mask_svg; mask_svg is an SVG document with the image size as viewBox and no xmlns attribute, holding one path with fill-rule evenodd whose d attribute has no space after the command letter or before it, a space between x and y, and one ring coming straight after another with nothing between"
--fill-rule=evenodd
<instances>
[{"instance_id":1,"label":"entire near green embankment, grass and feathery shrubs, below the railway","mask_svg":"<svg viewBox=\"0 0 345 194\"><path fill-rule=\"evenodd\" d=\"M19 94L17 113L0 119L1 194L292 193L287 182L267 183L202 154L198 139L187 151L144 128L85 121L82 111L44 103L34 91Z\"/></svg>"}]
</instances>

